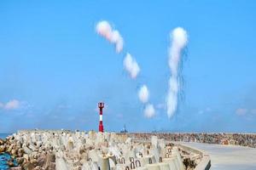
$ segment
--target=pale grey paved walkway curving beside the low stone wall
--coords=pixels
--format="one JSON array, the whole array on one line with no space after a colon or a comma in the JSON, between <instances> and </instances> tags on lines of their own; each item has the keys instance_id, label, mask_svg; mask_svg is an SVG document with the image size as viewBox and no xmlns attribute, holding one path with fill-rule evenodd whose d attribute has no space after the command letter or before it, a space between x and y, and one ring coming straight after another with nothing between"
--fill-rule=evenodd
<instances>
[{"instance_id":1,"label":"pale grey paved walkway curving beside the low stone wall","mask_svg":"<svg viewBox=\"0 0 256 170\"><path fill-rule=\"evenodd\" d=\"M184 143L210 155L211 170L256 169L256 149L220 144Z\"/></svg>"}]
</instances>

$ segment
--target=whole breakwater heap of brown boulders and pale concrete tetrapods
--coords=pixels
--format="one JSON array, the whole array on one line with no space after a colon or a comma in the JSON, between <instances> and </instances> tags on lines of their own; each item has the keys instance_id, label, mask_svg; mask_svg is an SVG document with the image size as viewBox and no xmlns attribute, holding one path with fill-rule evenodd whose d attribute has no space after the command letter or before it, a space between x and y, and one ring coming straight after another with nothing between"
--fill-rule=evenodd
<instances>
[{"instance_id":1,"label":"whole breakwater heap of brown boulders and pale concrete tetrapods","mask_svg":"<svg viewBox=\"0 0 256 170\"><path fill-rule=\"evenodd\" d=\"M18 161L20 167L11 169L184 170L196 166L195 161L193 167L184 165L189 155L156 136L139 142L117 133L20 131L2 141L0 150Z\"/></svg>"}]
</instances>

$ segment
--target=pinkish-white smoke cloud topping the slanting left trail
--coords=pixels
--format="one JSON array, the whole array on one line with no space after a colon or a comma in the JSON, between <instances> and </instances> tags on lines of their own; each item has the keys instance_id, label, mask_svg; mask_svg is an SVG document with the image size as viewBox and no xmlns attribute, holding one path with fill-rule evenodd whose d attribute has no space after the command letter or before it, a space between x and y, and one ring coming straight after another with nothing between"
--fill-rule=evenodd
<instances>
[{"instance_id":1,"label":"pinkish-white smoke cloud topping the slanting left trail","mask_svg":"<svg viewBox=\"0 0 256 170\"><path fill-rule=\"evenodd\" d=\"M119 34L119 31L113 30L107 20L102 20L97 23L96 32L102 37L105 37L109 42L114 43L117 53L123 50L123 37Z\"/></svg>"}]
</instances>

